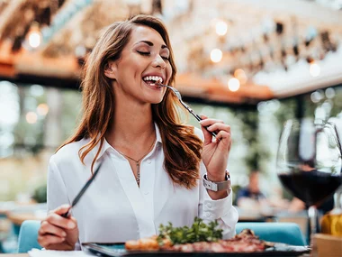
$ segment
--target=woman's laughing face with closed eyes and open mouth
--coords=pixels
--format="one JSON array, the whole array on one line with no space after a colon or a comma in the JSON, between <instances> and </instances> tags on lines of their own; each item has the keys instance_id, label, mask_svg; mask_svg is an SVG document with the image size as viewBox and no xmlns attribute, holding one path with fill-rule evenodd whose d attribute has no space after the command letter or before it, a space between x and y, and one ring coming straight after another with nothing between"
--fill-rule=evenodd
<instances>
[{"instance_id":1,"label":"woman's laughing face with closed eyes and open mouth","mask_svg":"<svg viewBox=\"0 0 342 257\"><path fill-rule=\"evenodd\" d=\"M170 51L157 31L141 25L133 28L121 58L109 63L115 78L115 95L126 96L141 103L160 103L166 87L157 88L153 79L161 79L163 84L168 83L172 75L169 57ZM107 71L105 74L110 77Z\"/></svg>"}]
</instances>

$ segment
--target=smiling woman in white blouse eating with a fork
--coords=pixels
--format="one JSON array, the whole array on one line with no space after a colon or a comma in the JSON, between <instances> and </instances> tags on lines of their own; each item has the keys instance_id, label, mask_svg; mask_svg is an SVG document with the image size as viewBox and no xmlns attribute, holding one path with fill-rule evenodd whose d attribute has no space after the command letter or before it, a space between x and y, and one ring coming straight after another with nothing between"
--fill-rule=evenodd
<instances>
[{"instance_id":1,"label":"smiling woman in white blouse eating with a fork","mask_svg":"<svg viewBox=\"0 0 342 257\"><path fill-rule=\"evenodd\" d=\"M225 237L235 234L231 193L202 184L205 173L227 180L229 125L202 116L202 126L217 133L213 140L203 127L180 124L177 99L154 84L173 85L175 72L166 28L152 16L113 23L96 43L85 65L83 119L49 162L51 211L40 225L41 246L125 242L157 234L167 222L192 225L195 216L217 219ZM71 216L60 216L99 163Z\"/></svg>"}]
</instances>

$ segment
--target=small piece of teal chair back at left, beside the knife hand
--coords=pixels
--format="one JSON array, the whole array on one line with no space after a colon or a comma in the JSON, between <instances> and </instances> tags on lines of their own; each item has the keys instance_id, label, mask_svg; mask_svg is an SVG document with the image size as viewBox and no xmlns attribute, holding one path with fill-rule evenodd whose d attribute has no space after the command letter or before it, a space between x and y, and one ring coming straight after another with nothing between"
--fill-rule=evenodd
<instances>
[{"instance_id":1,"label":"small piece of teal chair back at left, beside the knife hand","mask_svg":"<svg viewBox=\"0 0 342 257\"><path fill-rule=\"evenodd\" d=\"M18 238L18 252L29 252L32 248L41 249L38 243L38 230L40 229L40 221L25 220L20 227Z\"/></svg>"}]
</instances>

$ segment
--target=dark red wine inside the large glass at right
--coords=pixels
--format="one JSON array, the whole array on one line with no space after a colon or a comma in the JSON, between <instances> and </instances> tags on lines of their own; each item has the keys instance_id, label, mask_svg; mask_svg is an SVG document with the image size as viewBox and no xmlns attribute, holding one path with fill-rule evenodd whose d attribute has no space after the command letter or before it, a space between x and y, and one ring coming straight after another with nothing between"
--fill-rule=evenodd
<instances>
[{"instance_id":1,"label":"dark red wine inside the large glass at right","mask_svg":"<svg viewBox=\"0 0 342 257\"><path fill-rule=\"evenodd\" d=\"M279 179L294 197L300 198L308 206L319 205L342 184L340 175L317 170L280 174Z\"/></svg>"}]
</instances>

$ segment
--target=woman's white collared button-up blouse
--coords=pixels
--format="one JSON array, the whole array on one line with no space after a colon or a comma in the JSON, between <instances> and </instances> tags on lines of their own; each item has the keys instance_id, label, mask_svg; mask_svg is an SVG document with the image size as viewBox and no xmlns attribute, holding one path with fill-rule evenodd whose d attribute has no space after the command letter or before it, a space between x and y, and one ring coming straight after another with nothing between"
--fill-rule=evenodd
<instances>
[{"instance_id":1,"label":"woman's white collared button-up blouse","mask_svg":"<svg viewBox=\"0 0 342 257\"><path fill-rule=\"evenodd\" d=\"M224 238L235 234L238 212L229 197L212 200L202 179L198 186L186 189L175 186L163 168L164 152L156 125L157 141L140 164L140 187L130 163L104 141L94 170L103 162L99 174L85 195L72 209L79 229L79 243L116 243L158 233L160 224L191 226L195 216L204 221L217 219ZM195 129L202 137L202 131ZM78 151L89 140L72 142L49 161L48 211L70 204L91 177L91 163L99 145L79 160ZM133 146L134 147L134 146ZM206 172L201 161L201 175Z\"/></svg>"}]
</instances>

